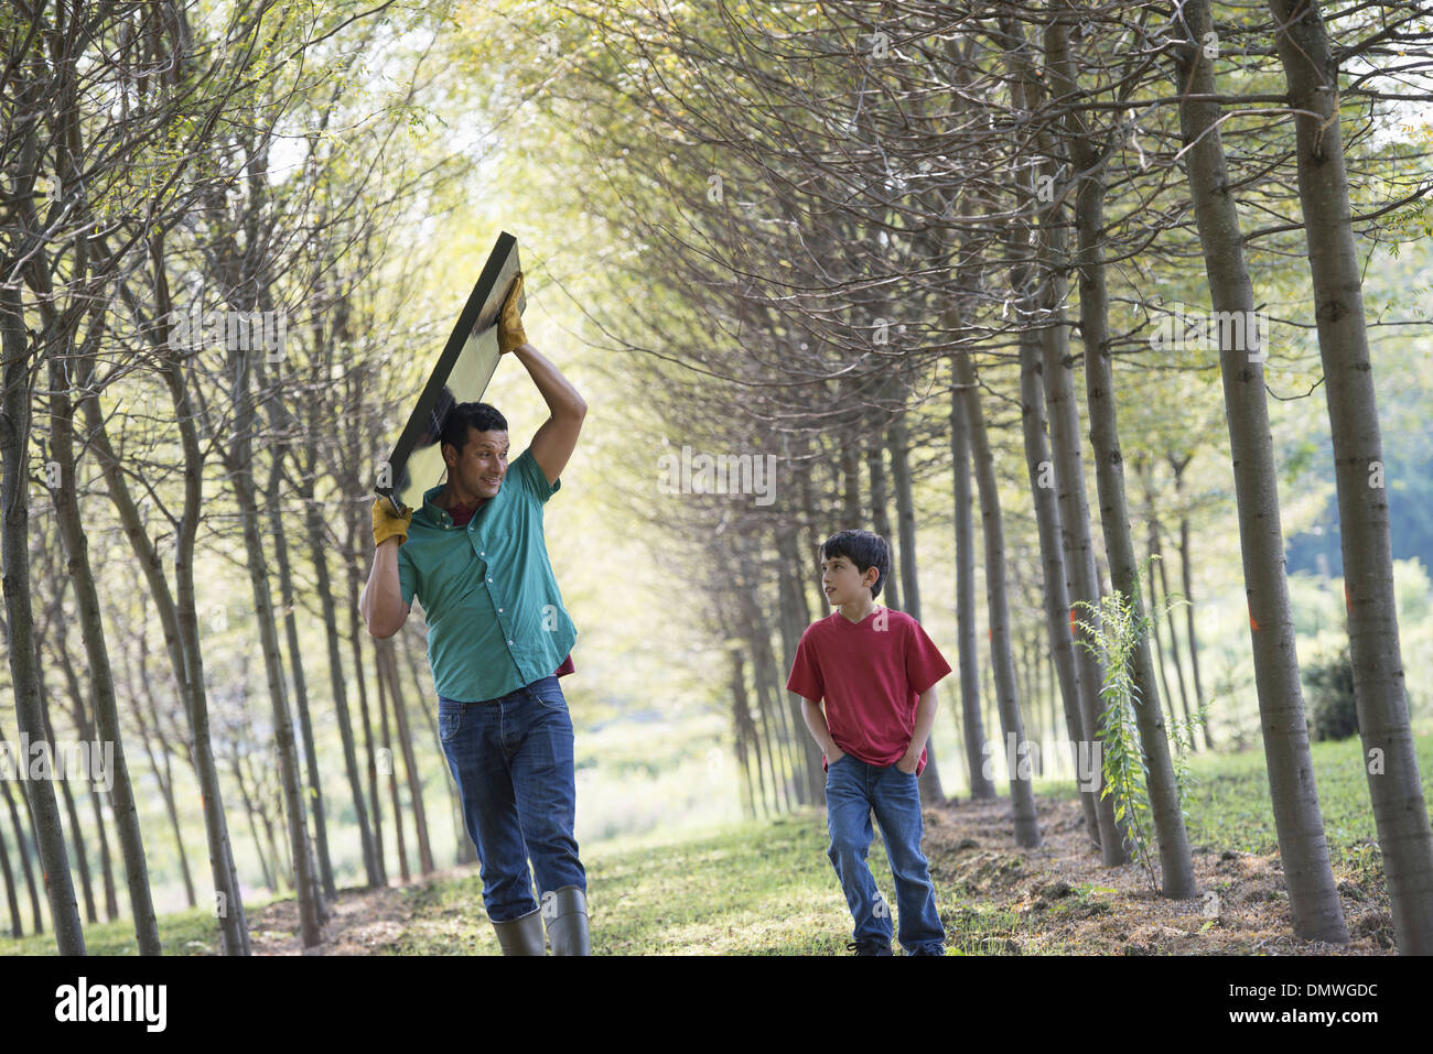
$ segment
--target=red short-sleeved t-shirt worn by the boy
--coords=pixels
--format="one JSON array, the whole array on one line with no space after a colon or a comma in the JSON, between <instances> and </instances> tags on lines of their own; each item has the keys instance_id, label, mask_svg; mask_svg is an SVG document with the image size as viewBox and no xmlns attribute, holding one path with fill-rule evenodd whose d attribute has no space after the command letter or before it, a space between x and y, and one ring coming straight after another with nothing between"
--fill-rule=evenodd
<instances>
[{"instance_id":1,"label":"red short-sleeved t-shirt worn by the boy","mask_svg":"<svg viewBox=\"0 0 1433 1054\"><path fill-rule=\"evenodd\" d=\"M910 748L920 693L947 673L950 663L904 611L877 607L853 623L837 609L801 634L787 690L814 703L824 699L835 745L886 768ZM921 749L916 773L924 768Z\"/></svg>"}]
</instances>

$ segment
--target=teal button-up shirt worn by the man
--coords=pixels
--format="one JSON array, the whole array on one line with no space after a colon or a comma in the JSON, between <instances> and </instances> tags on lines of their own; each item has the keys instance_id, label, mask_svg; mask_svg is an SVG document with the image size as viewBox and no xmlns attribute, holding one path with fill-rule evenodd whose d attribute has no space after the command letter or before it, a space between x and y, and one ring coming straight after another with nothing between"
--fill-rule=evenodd
<instances>
[{"instance_id":1,"label":"teal button-up shirt worn by the man","mask_svg":"<svg viewBox=\"0 0 1433 1054\"><path fill-rule=\"evenodd\" d=\"M433 683L446 699L497 699L547 677L577 630L547 560L543 506L552 485L529 447L507 467L497 495L457 527L424 493L398 547L403 601L417 597L428 623Z\"/></svg>"}]
</instances>

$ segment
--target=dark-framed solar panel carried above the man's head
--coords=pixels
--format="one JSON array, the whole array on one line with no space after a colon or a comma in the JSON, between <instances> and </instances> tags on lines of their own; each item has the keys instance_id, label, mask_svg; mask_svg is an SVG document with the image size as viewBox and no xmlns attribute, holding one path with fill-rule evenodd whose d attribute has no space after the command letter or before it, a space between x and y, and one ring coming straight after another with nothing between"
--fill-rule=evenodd
<instances>
[{"instance_id":1,"label":"dark-framed solar panel carried above the man's head","mask_svg":"<svg viewBox=\"0 0 1433 1054\"><path fill-rule=\"evenodd\" d=\"M417 508L423 493L443 478L438 435L449 411L459 402L477 402L497 369L497 312L517 278L517 239L506 231L483 266L453 335L449 337L428 382L423 387L387 465L380 467L378 494ZM526 298L517 308L526 306Z\"/></svg>"}]
</instances>

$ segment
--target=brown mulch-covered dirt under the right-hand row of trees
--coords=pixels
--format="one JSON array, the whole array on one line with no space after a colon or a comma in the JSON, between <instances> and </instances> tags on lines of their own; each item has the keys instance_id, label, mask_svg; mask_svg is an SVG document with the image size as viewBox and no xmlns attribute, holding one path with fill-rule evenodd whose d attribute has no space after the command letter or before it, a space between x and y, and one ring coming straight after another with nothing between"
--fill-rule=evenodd
<instances>
[{"instance_id":1,"label":"brown mulch-covered dirt under the right-hand row of trees","mask_svg":"<svg viewBox=\"0 0 1433 1054\"><path fill-rule=\"evenodd\" d=\"M1199 896L1169 901L1151 889L1142 866L1106 868L1101 862L1078 801L1036 799L1036 816L1043 843L1020 849L1015 843L1009 799L926 809L924 848L937 888L957 891L953 921L959 925L962 914L977 904L982 911L1009 912L1006 919L1013 914L1013 924L996 929L992 951L1393 954L1383 882L1360 882L1357 875L1336 871L1350 944L1300 941L1293 935L1277 854L1261 856L1195 846Z\"/></svg>"}]
</instances>

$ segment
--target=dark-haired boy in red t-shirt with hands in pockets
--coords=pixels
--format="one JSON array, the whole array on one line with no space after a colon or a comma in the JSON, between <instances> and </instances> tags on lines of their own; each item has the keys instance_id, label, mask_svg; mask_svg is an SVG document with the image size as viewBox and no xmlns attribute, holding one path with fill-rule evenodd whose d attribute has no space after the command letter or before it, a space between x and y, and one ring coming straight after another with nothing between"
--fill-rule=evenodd
<instances>
[{"instance_id":1,"label":"dark-haired boy in red t-shirt with hands in pockets","mask_svg":"<svg viewBox=\"0 0 1433 1054\"><path fill-rule=\"evenodd\" d=\"M801 634L787 690L801 696L807 727L825 755L827 855L856 921L847 948L891 954L890 908L866 865L874 809L896 879L901 947L907 955L944 955L946 931L920 851L916 780L936 719L936 685L950 664L920 623L876 607L888 571L880 534L840 531L825 540L821 587L835 610Z\"/></svg>"}]
</instances>

